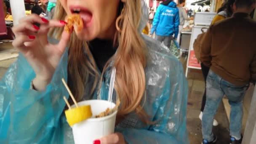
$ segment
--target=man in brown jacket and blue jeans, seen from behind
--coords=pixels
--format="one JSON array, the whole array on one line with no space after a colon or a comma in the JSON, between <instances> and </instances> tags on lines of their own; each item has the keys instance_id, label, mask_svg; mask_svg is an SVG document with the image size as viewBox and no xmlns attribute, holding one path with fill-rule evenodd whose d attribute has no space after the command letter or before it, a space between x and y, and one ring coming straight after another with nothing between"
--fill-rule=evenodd
<instances>
[{"instance_id":1,"label":"man in brown jacket and blue jeans, seen from behind","mask_svg":"<svg viewBox=\"0 0 256 144\"><path fill-rule=\"evenodd\" d=\"M256 22L249 17L256 0L236 0L235 13L206 32L200 60L210 67L202 119L202 144L214 144L213 117L226 95L231 105L230 144L242 142L243 97L250 80L256 80Z\"/></svg>"}]
</instances>

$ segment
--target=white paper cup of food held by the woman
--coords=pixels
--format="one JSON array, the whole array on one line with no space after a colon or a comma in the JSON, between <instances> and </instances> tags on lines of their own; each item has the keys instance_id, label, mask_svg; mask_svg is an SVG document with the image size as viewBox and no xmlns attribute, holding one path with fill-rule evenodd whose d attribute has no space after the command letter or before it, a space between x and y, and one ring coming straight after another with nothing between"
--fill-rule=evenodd
<instances>
[{"instance_id":1,"label":"white paper cup of food held by the woman","mask_svg":"<svg viewBox=\"0 0 256 144\"><path fill-rule=\"evenodd\" d=\"M77 103L78 106L91 105L93 116L99 115L110 107L104 100L88 100ZM72 105L75 107L75 105ZM112 108L115 104L112 103ZM75 144L93 144L93 141L114 133L117 111L106 117L89 118L72 126Z\"/></svg>"}]
</instances>

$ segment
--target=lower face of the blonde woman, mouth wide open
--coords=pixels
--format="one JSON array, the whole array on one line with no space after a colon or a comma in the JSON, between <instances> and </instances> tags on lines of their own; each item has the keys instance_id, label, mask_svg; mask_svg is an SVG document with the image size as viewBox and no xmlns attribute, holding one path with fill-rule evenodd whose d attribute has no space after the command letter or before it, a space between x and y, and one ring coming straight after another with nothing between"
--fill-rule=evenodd
<instances>
[{"instance_id":1,"label":"lower face of the blonde woman, mouth wide open","mask_svg":"<svg viewBox=\"0 0 256 144\"><path fill-rule=\"evenodd\" d=\"M84 28L76 32L80 40L113 38L120 0L59 0L67 15L79 13Z\"/></svg>"}]
</instances>

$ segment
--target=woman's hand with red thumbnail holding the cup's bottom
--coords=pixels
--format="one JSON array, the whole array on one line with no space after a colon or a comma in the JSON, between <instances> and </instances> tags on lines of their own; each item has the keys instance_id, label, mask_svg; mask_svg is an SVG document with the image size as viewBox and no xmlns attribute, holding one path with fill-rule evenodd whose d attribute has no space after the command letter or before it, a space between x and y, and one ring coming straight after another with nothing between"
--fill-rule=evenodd
<instances>
[{"instance_id":1,"label":"woman's hand with red thumbnail holding the cup's bottom","mask_svg":"<svg viewBox=\"0 0 256 144\"><path fill-rule=\"evenodd\" d=\"M93 144L127 144L122 133L113 133L93 141Z\"/></svg>"}]
</instances>

